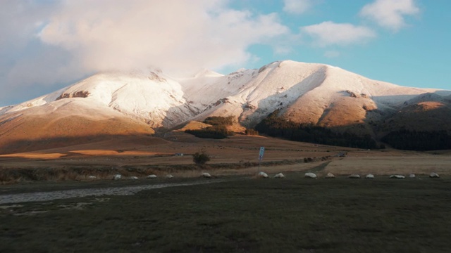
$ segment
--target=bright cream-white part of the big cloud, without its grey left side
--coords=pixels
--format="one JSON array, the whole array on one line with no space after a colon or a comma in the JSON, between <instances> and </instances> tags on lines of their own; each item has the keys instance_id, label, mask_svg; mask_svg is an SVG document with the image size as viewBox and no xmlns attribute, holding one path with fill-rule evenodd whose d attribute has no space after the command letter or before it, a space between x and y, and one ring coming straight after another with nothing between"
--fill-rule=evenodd
<instances>
[{"instance_id":1,"label":"bright cream-white part of the big cloud, without its grey left side","mask_svg":"<svg viewBox=\"0 0 451 253\"><path fill-rule=\"evenodd\" d=\"M87 70L194 70L245 63L249 45L288 32L276 14L236 11L225 1L78 0L52 16L40 38L75 53Z\"/></svg>"}]
</instances>

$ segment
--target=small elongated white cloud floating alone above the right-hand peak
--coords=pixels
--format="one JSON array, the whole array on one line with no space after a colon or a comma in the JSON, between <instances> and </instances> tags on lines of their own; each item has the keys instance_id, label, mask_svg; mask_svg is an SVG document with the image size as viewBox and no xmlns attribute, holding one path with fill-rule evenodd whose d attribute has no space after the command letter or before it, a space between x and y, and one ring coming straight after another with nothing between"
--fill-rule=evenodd
<instances>
[{"instance_id":1,"label":"small elongated white cloud floating alone above the right-hand peak","mask_svg":"<svg viewBox=\"0 0 451 253\"><path fill-rule=\"evenodd\" d=\"M368 27L330 21L301 27L301 31L314 37L319 46L359 44L376 37Z\"/></svg>"}]
</instances>

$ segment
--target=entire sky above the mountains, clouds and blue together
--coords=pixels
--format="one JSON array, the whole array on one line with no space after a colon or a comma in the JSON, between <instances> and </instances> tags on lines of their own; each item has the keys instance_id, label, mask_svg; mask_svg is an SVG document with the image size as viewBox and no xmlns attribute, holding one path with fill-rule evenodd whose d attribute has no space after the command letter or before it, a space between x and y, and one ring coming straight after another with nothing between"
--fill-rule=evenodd
<instances>
[{"instance_id":1,"label":"entire sky above the mountains, clouds and blue together","mask_svg":"<svg viewBox=\"0 0 451 253\"><path fill-rule=\"evenodd\" d=\"M96 72L276 60L451 89L449 0L0 0L0 106Z\"/></svg>"}]
</instances>

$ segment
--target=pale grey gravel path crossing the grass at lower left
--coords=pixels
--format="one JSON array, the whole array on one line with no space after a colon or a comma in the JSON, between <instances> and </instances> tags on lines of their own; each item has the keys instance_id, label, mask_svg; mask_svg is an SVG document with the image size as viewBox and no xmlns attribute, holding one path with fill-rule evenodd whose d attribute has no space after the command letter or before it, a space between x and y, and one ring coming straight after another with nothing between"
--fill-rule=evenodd
<instances>
[{"instance_id":1,"label":"pale grey gravel path crossing the grass at lower left","mask_svg":"<svg viewBox=\"0 0 451 253\"><path fill-rule=\"evenodd\" d=\"M37 202L37 201L49 201L67 199L70 197L86 197L86 196L101 196L101 195L133 195L141 190L150 190L175 186L195 186L208 183L221 183L224 181L230 181L225 179L214 179L209 181L194 181L190 183L159 183L143 186L122 186L122 187L109 187L109 188L86 188L86 189L73 189L73 190L56 190L49 192L37 192L37 193L15 193L0 195L1 204L11 204L20 202Z\"/></svg>"}]
</instances>

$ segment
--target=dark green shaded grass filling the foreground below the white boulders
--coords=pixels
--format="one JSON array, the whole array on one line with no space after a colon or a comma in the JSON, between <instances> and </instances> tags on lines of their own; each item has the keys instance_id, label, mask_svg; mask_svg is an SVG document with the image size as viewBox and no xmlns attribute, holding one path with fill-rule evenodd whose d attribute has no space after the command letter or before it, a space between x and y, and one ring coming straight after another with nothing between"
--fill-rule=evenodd
<instances>
[{"instance_id":1,"label":"dark green shaded grass filling the foreground below the white boulders","mask_svg":"<svg viewBox=\"0 0 451 253\"><path fill-rule=\"evenodd\" d=\"M450 252L451 179L286 176L0 209L0 252Z\"/></svg>"}]
</instances>

